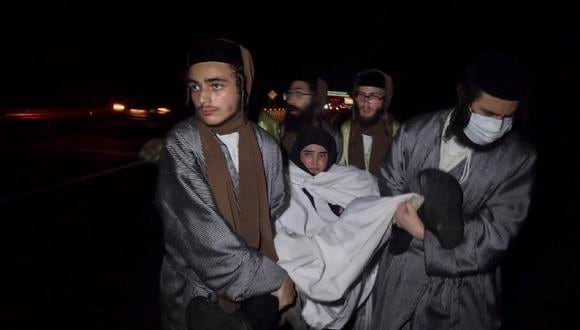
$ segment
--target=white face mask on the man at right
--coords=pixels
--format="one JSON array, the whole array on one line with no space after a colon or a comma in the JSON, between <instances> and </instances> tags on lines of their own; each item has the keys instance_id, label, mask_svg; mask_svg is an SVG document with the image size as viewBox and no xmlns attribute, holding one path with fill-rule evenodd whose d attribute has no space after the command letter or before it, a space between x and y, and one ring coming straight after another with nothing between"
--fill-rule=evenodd
<instances>
[{"instance_id":1,"label":"white face mask on the man at right","mask_svg":"<svg viewBox=\"0 0 580 330\"><path fill-rule=\"evenodd\" d=\"M471 111L471 109L469 109ZM512 128L512 118L503 119L483 116L471 111L469 124L463 129L463 133L473 142L479 145L489 144L502 137Z\"/></svg>"}]
</instances>

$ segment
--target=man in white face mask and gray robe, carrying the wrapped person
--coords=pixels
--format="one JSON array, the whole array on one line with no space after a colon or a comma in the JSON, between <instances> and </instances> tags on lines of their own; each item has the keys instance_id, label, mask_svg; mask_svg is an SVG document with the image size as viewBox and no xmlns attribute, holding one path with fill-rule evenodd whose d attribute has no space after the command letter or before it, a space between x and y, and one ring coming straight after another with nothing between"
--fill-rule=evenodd
<instances>
[{"instance_id":1,"label":"man in white face mask and gray robe, carrying the wrapped person","mask_svg":"<svg viewBox=\"0 0 580 330\"><path fill-rule=\"evenodd\" d=\"M407 192L423 169L448 172L463 190L464 234L444 248L412 207L397 209L395 223L413 239L405 251L385 249L373 329L500 328L499 264L527 216L536 161L520 132L530 90L519 60L487 54L467 67L454 109L401 127L382 165L381 195Z\"/></svg>"}]
</instances>

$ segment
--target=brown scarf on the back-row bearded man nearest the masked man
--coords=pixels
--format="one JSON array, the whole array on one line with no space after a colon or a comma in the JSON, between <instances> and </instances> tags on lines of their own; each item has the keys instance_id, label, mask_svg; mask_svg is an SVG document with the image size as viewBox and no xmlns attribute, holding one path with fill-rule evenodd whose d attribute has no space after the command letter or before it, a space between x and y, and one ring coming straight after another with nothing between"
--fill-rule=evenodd
<instances>
[{"instance_id":1,"label":"brown scarf on the back-row bearded man nearest the masked man","mask_svg":"<svg viewBox=\"0 0 580 330\"><path fill-rule=\"evenodd\" d=\"M371 159L369 161L368 171L378 177L381 174L381 161L393 142L388 124L385 120L380 120L378 123L364 128L356 120L353 120L351 125L348 163L361 170L366 170L362 135L370 135L373 138L373 144L371 146Z\"/></svg>"}]
</instances>

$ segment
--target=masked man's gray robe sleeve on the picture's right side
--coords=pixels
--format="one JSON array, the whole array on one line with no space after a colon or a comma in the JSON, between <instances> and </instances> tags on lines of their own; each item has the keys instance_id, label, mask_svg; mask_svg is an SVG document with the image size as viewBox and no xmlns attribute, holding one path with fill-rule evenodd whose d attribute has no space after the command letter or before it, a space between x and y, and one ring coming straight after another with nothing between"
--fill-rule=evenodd
<instances>
[{"instance_id":1,"label":"masked man's gray robe sleeve on the picture's right side","mask_svg":"<svg viewBox=\"0 0 580 330\"><path fill-rule=\"evenodd\" d=\"M527 216L536 156L528 154L491 193L485 205L465 218L465 237L454 249L443 249L429 231L423 241L427 275L460 277L495 268Z\"/></svg>"}]
</instances>

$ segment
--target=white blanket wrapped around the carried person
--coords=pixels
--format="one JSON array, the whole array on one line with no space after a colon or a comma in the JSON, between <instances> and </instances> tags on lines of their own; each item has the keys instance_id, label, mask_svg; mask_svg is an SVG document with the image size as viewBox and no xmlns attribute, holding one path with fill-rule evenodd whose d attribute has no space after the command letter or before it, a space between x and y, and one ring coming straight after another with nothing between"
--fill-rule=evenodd
<instances>
[{"instance_id":1,"label":"white blanket wrapped around the carried person","mask_svg":"<svg viewBox=\"0 0 580 330\"><path fill-rule=\"evenodd\" d=\"M366 266L390 235L397 205L413 200L418 206L421 198L381 198L376 179L354 166L333 165L312 176L290 162L289 173L290 205L276 221L278 264L304 298L305 321L318 329L338 329L370 294L376 268ZM328 203L344 208L340 217Z\"/></svg>"}]
</instances>

